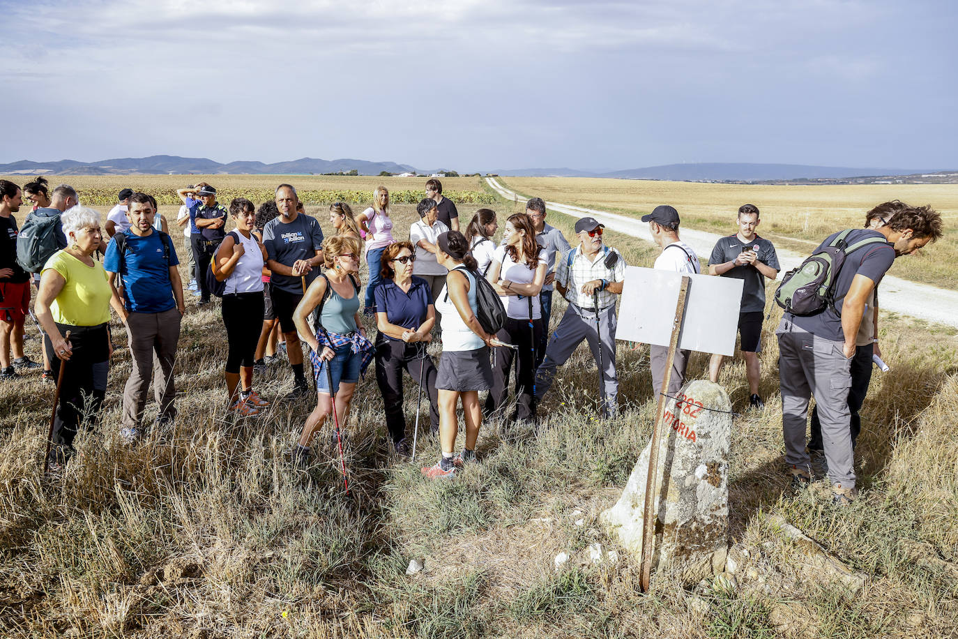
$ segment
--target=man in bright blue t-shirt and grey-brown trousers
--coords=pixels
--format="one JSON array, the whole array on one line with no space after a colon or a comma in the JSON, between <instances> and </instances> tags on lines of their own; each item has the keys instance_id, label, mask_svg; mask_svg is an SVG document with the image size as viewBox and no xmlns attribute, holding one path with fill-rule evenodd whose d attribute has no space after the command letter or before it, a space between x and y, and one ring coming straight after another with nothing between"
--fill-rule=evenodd
<instances>
[{"instance_id":1,"label":"man in bright blue t-shirt and grey-brown trousers","mask_svg":"<svg viewBox=\"0 0 958 639\"><path fill-rule=\"evenodd\" d=\"M170 236L153 228L156 211L147 194L130 195L130 226L110 240L103 257L114 295L123 303L123 321L133 368L126 380L121 435L134 444L141 435L150 378L160 405L157 423L176 416L173 363L183 316L183 284ZM117 289L120 274L120 289Z\"/></svg>"}]
</instances>

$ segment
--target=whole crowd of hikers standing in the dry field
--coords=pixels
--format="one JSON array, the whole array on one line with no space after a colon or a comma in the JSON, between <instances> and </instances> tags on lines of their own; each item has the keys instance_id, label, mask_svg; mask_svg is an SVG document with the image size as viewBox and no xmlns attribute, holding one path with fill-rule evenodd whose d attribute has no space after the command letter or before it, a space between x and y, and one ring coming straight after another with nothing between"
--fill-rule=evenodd
<instances>
[{"instance_id":1,"label":"whole crowd of hikers standing in the dry field","mask_svg":"<svg viewBox=\"0 0 958 639\"><path fill-rule=\"evenodd\" d=\"M6 230L0 230L4 242L0 365L4 375L7 371L15 375L18 366L39 366L26 358L22 346L30 302L30 269L22 262L33 251L38 288L34 308L45 334L45 372L57 376L63 362L69 362L60 384L56 446L49 460L56 466L68 459L84 416L95 421L99 413L113 348L111 307L125 326L132 360L124 392L123 438L133 444L143 436L150 380L159 405L156 422L176 418L173 371L185 312L184 285L165 230L167 221L159 216L151 196L129 189L119 194L118 207L124 215L108 216L107 243L100 214L81 206L75 190L61 185L48 195L45 183L40 186L42 195L36 194L36 183L23 191L34 188L29 194L32 199L36 194L36 207L18 238L12 214L19 210L22 193L0 180L0 226ZM244 198L234 199L227 208L206 183L178 191L184 208L176 221L190 237L194 263L187 288L195 287L200 306L213 295L222 298L230 410L251 417L269 405L254 390L253 377L277 333L285 340L292 370L293 390L287 398L307 397L301 340L308 345L316 404L291 450L295 463L308 465L313 438L333 411L346 422L355 385L373 362L386 426L400 455L409 452L403 371L426 395L430 426L438 431L441 445L436 464L422 469L429 478L453 477L458 468L475 460L483 420L535 421L557 368L582 340L599 368L600 410L604 417L615 415L616 300L623 291L627 264L616 249L604 244L604 225L594 217L582 217L575 224L577 243L570 245L546 223L545 202L534 197L524 213L503 220L502 239L496 242L499 221L493 211L479 209L461 232L456 207L442 192L439 180L426 183L426 197L417 205L420 220L412 224L406 241L394 237L384 187L376 189L372 206L359 216L349 204L334 202L331 237L324 236L315 217L306 215L289 184L277 187L274 201L259 209ZM234 229L226 232L230 220ZM680 218L672 206L658 206L642 221L649 224L652 239L661 248L654 268L701 272L695 250L679 238ZM772 242L757 233L759 209L741 206L736 221L738 232L717 242L708 272L743 281L741 352L749 403L762 408L758 354L767 314L765 281L774 280L780 266ZM45 235L47 226L51 228ZM833 304L810 316L785 313L776 332L786 460L795 485L810 482L811 453L819 472L827 472L835 499L842 503L854 499L857 411L867 391L871 355L878 349L876 287L896 257L912 254L941 235L941 217L933 210L898 200L881 204L869 212L866 228L841 238L848 256L835 278ZM833 245L837 236L825 240L819 250ZM855 249L848 248L852 245ZM50 255L40 255L42 250ZM103 263L95 258L98 251ZM358 277L363 261L369 266L365 291ZM493 291L491 299L499 297L504 314L494 333L480 321L480 307L489 299L480 289L487 285ZM568 305L550 337L553 290ZM373 339L363 324L364 315L375 318ZM436 336L442 340L438 366L427 353ZM679 391L688 357L681 350L674 354L669 386L662 389L668 349L650 346L653 393L664 390L674 396ZM713 355L709 365L713 381L721 363L722 358ZM510 404L513 368L515 401ZM488 395L481 402L484 391ZM807 446L811 395L816 409ZM457 452L460 403L466 441Z\"/></svg>"}]
</instances>

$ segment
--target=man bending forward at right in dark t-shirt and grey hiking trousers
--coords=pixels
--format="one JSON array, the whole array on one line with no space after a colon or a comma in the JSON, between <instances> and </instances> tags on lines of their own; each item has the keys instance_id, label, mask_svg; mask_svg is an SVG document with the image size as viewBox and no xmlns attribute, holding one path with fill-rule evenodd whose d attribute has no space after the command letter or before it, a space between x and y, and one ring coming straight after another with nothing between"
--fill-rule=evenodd
<instances>
[{"instance_id":1,"label":"man bending forward at right in dark t-shirt and grey hiking trousers","mask_svg":"<svg viewBox=\"0 0 958 639\"><path fill-rule=\"evenodd\" d=\"M837 235L827 238L812 254L828 246ZM928 207L902 209L877 230L852 230L846 238L849 246L862 240L878 241L846 254L844 264L833 274L833 304L814 315L787 312L782 317L775 331L779 340L782 431L785 459L796 488L811 482L805 433L809 399L814 395L834 502L846 505L855 499L848 395L866 303L897 257L911 255L941 237L942 217Z\"/></svg>"}]
</instances>

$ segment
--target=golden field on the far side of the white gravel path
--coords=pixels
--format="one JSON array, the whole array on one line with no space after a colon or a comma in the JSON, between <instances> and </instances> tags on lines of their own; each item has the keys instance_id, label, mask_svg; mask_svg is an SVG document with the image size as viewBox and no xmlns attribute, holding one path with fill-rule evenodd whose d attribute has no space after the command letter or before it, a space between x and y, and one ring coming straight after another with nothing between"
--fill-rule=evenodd
<instances>
[{"instance_id":1,"label":"golden field on the far side of the white gravel path","mask_svg":"<svg viewBox=\"0 0 958 639\"><path fill-rule=\"evenodd\" d=\"M810 252L838 229L861 226L865 212L879 202L930 204L945 219L945 238L914 259L895 262L890 272L915 282L958 285L958 184L770 186L578 177L498 179L526 196L622 214L641 216L659 204L672 204L683 226L720 235L736 232L736 212L751 202L762 211L760 234L800 253Z\"/></svg>"}]
</instances>

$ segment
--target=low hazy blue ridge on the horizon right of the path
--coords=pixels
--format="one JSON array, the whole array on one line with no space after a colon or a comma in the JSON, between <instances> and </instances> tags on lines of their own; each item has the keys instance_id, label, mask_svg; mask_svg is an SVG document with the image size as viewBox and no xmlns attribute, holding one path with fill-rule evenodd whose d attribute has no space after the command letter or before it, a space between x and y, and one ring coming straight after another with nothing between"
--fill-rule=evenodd
<instances>
[{"instance_id":1,"label":"low hazy blue ridge on the horizon right of the path","mask_svg":"<svg viewBox=\"0 0 958 639\"><path fill-rule=\"evenodd\" d=\"M909 175L940 171L935 169L876 169L849 167L813 167L804 164L741 164L695 163L666 164L660 167L628 169L627 171L590 172L576 169L516 169L494 171L500 175L529 175L557 177L614 177L631 180L794 180L799 178L840 178L863 175Z\"/></svg>"}]
</instances>

